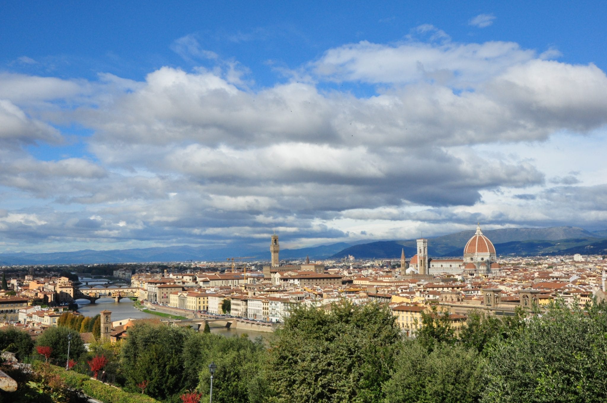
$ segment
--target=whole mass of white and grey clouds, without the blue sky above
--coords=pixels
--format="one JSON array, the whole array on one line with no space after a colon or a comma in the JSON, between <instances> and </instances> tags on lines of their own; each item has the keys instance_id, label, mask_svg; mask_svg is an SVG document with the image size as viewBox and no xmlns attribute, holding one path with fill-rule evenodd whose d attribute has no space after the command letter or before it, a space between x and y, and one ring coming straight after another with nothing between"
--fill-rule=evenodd
<instances>
[{"instance_id":1,"label":"whole mass of white and grey clouds, without the blue sky above","mask_svg":"<svg viewBox=\"0 0 607 403\"><path fill-rule=\"evenodd\" d=\"M253 89L245 67L194 36L174 51L215 68L161 67L143 81L0 74L5 249L265 245L273 230L309 245L480 220L605 226L606 185L569 173L575 163L561 172L500 152L602 135L605 72L513 42L419 32L432 35L327 49L297 67L305 80ZM78 138L86 152L52 154L73 125L90 133Z\"/></svg>"}]
</instances>

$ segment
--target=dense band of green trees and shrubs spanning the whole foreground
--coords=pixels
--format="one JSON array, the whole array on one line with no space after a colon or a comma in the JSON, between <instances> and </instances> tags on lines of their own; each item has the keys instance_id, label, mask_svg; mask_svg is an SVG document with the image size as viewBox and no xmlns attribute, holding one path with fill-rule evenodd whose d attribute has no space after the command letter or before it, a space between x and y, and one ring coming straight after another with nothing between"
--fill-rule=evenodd
<instances>
[{"instance_id":1,"label":"dense band of green trees and shrubs spanning the whole foreground","mask_svg":"<svg viewBox=\"0 0 607 403\"><path fill-rule=\"evenodd\" d=\"M602 306L571 310L557 301L542 314L473 313L459 336L447 318L432 308L422 317L418 337L406 339L387 307L342 302L330 311L294 308L268 344L141 323L122 344L93 344L88 352L75 333L70 357L77 361L74 370L90 376L84 363L103 362L112 382L127 393L175 403L181 396L208 401L211 362L217 365L217 403L607 400ZM38 347L52 348L49 363L65 365L69 331L58 328L38 338ZM25 356L32 345L19 334L0 331L0 348ZM75 371L64 374L73 374L67 384L81 390L103 385Z\"/></svg>"}]
</instances>

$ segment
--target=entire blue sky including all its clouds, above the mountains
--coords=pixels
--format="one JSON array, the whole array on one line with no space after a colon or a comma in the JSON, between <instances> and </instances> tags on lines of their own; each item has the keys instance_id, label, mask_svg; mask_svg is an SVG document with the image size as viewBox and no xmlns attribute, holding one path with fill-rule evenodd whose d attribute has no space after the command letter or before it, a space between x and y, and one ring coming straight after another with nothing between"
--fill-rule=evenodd
<instances>
[{"instance_id":1,"label":"entire blue sky including all its clouds, above the mountains","mask_svg":"<svg viewBox=\"0 0 607 403\"><path fill-rule=\"evenodd\" d=\"M607 228L599 2L0 7L0 251Z\"/></svg>"}]
</instances>

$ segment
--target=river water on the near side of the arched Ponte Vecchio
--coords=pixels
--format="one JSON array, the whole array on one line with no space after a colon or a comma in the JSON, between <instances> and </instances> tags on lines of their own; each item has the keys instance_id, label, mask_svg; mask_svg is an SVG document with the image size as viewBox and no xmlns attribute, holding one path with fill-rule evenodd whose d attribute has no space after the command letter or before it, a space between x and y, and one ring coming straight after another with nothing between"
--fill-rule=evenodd
<instances>
[{"instance_id":1,"label":"river water on the near side of the arched Ponte Vecchio","mask_svg":"<svg viewBox=\"0 0 607 403\"><path fill-rule=\"evenodd\" d=\"M134 302L131 299L123 298L120 302L114 302L112 298L101 298L97 300L97 303L89 303L87 300L76 300L78 303L78 312L83 314L84 316L95 316L100 311L108 310L112 312L112 322L114 320L121 319L141 319L141 318L154 318L154 319L164 319L163 317L149 314L145 312L141 312L140 310L134 307ZM259 331L250 331L250 330L239 330L239 329L229 329L225 327L221 328L213 328L211 327L212 333L223 334L223 336L234 336L240 335L242 333L246 333L249 336L249 339L253 340L257 336L262 336L267 338L271 333L259 332Z\"/></svg>"}]
</instances>

